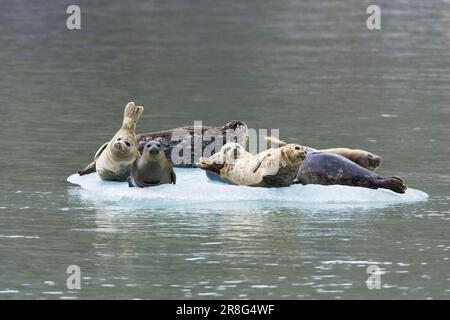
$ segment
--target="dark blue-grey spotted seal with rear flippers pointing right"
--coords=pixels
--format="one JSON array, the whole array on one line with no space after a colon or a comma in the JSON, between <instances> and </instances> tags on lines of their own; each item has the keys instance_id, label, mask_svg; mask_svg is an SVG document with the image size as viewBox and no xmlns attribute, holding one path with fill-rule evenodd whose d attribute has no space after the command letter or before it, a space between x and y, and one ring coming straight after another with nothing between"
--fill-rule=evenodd
<instances>
[{"instance_id":1,"label":"dark blue-grey spotted seal with rear flippers pointing right","mask_svg":"<svg viewBox=\"0 0 450 320\"><path fill-rule=\"evenodd\" d=\"M346 185L405 193L398 177L383 177L335 153L312 152L301 164L294 184Z\"/></svg>"}]
</instances>

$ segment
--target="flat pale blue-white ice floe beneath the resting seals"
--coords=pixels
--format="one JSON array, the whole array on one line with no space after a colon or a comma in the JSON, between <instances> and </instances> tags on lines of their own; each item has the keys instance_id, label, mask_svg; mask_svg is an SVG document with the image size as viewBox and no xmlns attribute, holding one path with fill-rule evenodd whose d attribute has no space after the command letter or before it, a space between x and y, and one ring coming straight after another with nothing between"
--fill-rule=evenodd
<instances>
[{"instance_id":1,"label":"flat pale blue-white ice floe beneath the resting seals","mask_svg":"<svg viewBox=\"0 0 450 320\"><path fill-rule=\"evenodd\" d=\"M113 202L125 206L178 206L197 204L226 205L253 202L268 206L317 206L346 204L346 206L379 206L426 201L428 195L409 188L398 194L386 189L348 186L292 185L285 188L255 188L233 186L209 180L200 169L176 168L177 184L149 188L129 188L126 182L102 181L96 173L85 176L73 174L67 181L81 186L83 197L95 201Z\"/></svg>"}]
</instances>

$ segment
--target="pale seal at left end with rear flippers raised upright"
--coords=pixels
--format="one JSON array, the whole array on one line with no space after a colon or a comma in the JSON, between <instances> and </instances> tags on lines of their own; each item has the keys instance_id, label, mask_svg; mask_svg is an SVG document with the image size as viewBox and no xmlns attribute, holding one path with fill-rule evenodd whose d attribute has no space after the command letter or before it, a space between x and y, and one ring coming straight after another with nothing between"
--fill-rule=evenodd
<instances>
[{"instance_id":1,"label":"pale seal at left end with rear flippers raised upright","mask_svg":"<svg viewBox=\"0 0 450 320\"><path fill-rule=\"evenodd\" d=\"M126 181L138 155L135 128L144 107L129 102L125 106L122 126L111 141L98 149L94 161L80 170L80 175L97 171L102 180Z\"/></svg>"}]
</instances>

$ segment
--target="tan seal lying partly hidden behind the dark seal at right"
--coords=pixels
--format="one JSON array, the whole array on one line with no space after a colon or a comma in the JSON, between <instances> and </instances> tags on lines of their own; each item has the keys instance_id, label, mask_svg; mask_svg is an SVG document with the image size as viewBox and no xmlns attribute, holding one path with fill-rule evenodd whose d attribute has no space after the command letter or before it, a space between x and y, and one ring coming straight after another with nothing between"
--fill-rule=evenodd
<instances>
[{"instance_id":1,"label":"tan seal lying partly hidden behind the dark seal at right","mask_svg":"<svg viewBox=\"0 0 450 320\"><path fill-rule=\"evenodd\" d=\"M271 143L271 145L276 146L284 146L287 144L287 142L281 141L275 137L266 137L266 140ZM380 166L381 158L380 156L373 154L366 150L361 149L349 149L349 148L330 148L330 149L314 149L311 147L307 147L308 153L311 152L328 152L328 153L335 153L338 155L341 155L354 163L359 164L360 166L370 170L374 171L377 167Z\"/></svg>"}]
</instances>

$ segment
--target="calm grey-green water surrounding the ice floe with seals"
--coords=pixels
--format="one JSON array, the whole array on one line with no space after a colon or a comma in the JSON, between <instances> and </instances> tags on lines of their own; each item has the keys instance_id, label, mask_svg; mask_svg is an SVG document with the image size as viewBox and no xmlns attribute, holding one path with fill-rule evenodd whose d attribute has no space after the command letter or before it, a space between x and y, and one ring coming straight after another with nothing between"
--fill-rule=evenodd
<instances>
[{"instance_id":1,"label":"calm grey-green water surrounding the ice floe with seals","mask_svg":"<svg viewBox=\"0 0 450 320\"><path fill-rule=\"evenodd\" d=\"M450 298L450 2L2 1L0 299ZM428 202L124 209L68 175L145 106L382 155ZM66 287L78 265L82 289ZM382 289L366 268L383 270Z\"/></svg>"}]
</instances>

